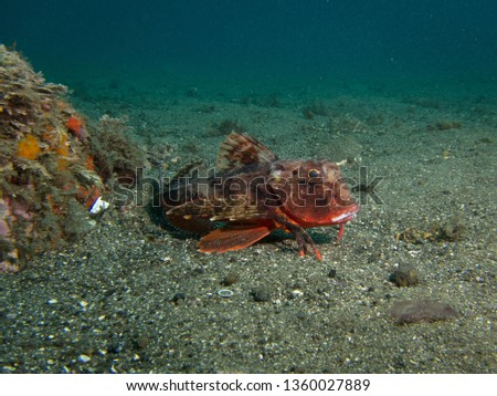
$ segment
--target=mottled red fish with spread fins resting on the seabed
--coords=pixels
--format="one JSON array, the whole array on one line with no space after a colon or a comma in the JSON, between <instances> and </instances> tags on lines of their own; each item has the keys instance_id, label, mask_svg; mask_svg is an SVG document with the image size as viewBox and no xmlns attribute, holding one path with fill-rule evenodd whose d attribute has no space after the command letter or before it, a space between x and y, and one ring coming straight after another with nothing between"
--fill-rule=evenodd
<instances>
[{"instance_id":1,"label":"mottled red fish with spread fins resting on the seabed","mask_svg":"<svg viewBox=\"0 0 497 396\"><path fill-rule=\"evenodd\" d=\"M340 240L343 225L359 210L337 164L278 159L235 132L221 144L214 173L175 178L162 191L162 206L172 225L205 233L201 252L244 249L283 229L295 236L300 256L313 251L319 260L305 229L339 226Z\"/></svg>"}]
</instances>

